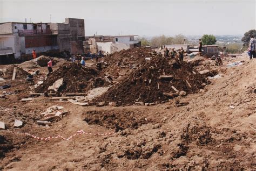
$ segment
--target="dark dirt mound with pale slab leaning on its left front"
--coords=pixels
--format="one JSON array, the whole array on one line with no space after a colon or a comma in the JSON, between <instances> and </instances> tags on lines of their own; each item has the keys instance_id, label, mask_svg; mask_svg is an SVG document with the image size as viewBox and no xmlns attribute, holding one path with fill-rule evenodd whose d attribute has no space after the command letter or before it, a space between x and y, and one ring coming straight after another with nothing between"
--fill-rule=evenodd
<instances>
[{"instance_id":1,"label":"dark dirt mound with pale slab leaning on its left front","mask_svg":"<svg viewBox=\"0 0 256 171\"><path fill-rule=\"evenodd\" d=\"M62 79L62 85L58 88L59 92L85 92L107 84L98 76L99 73L95 69L84 68L80 63L66 62L51 73L35 91L54 91L48 90L48 88L57 80Z\"/></svg>"}]
</instances>

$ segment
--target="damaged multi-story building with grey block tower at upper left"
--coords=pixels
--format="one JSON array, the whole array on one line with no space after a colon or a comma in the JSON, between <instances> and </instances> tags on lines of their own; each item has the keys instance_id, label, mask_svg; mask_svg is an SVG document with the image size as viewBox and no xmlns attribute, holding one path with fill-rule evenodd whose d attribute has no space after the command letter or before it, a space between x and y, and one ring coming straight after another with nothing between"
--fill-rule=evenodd
<instances>
[{"instance_id":1,"label":"damaged multi-story building with grey block tower at upper left","mask_svg":"<svg viewBox=\"0 0 256 171\"><path fill-rule=\"evenodd\" d=\"M0 23L0 58L51 50L83 53L84 19L66 18L65 23Z\"/></svg>"}]
</instances>

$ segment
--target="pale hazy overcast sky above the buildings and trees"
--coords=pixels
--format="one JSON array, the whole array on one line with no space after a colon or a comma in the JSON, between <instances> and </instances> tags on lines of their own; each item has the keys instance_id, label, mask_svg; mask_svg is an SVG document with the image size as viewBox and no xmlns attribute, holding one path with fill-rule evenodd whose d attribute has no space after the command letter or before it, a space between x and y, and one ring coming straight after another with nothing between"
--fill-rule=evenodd
<instances>
[{"instance_id":1,"label":"pale hazy overcast sky above the buildings and trees","mask_svg":"<svg viewBox=\"0 0 256 171\"><path fill-rule=\"evenodd\" d=\"M0 23L85 19L85 35L242 35L256 27L256 0L0 0Z\"/></svg>"}]
</instances>

